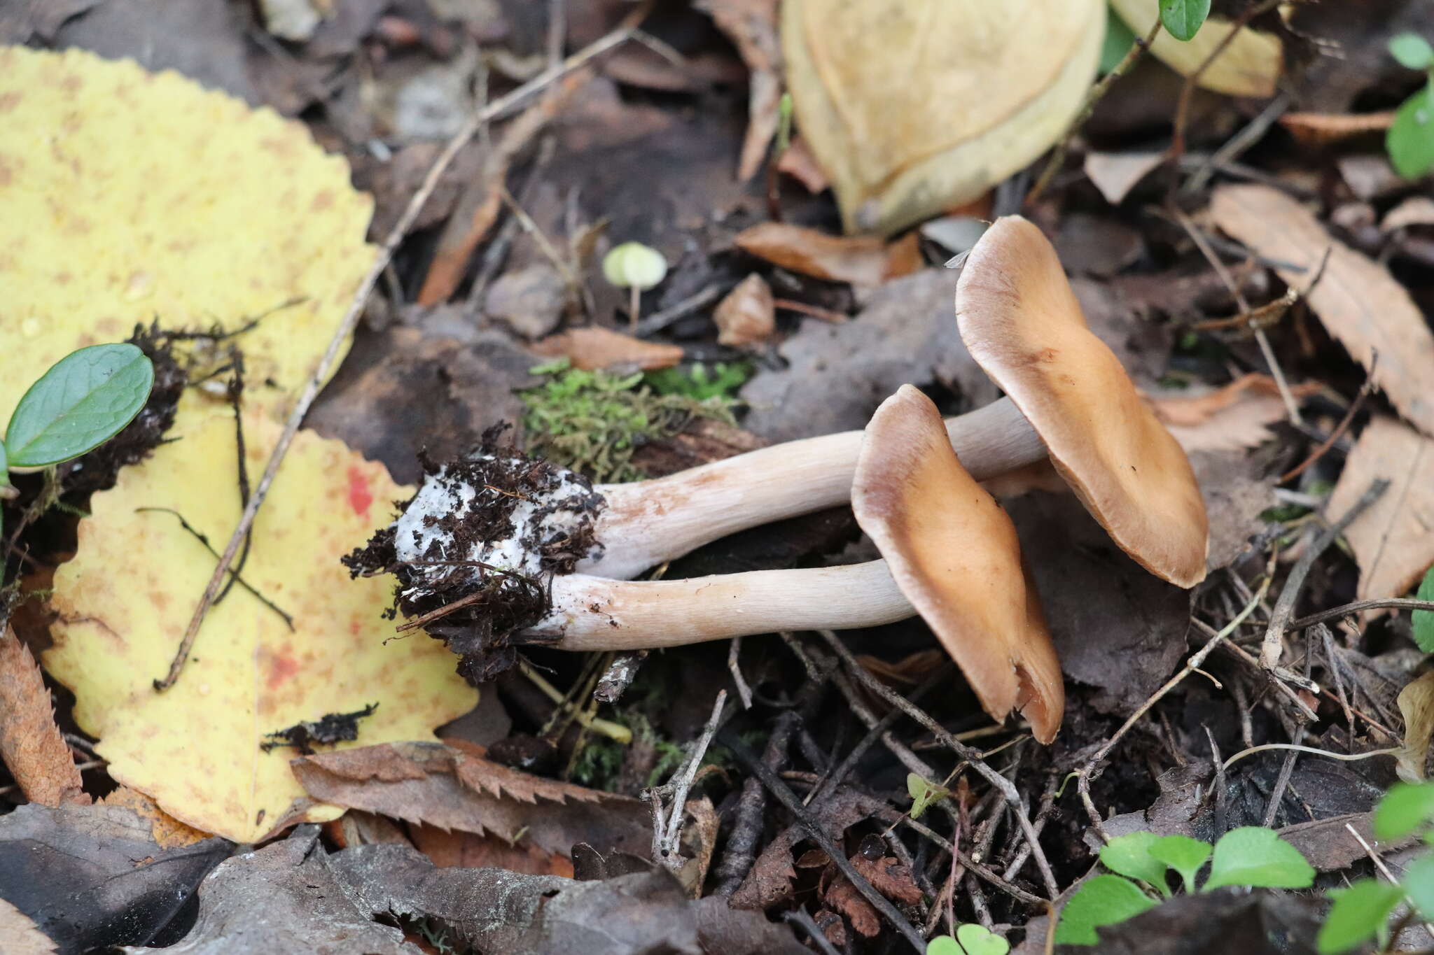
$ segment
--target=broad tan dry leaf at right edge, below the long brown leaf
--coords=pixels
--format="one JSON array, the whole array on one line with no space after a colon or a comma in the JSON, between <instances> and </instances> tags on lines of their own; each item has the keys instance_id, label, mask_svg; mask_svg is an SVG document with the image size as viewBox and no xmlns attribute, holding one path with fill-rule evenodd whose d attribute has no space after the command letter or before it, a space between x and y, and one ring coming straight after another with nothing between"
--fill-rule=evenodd
<instances>
[{"instance_id":1,"label":"broad tan dry leaf at right edge, below the long brown leaf","mask_svg":"<svg viewBox=\"0 0 1434 955\"><path fill-rule=\"evenodd\" d=\"M1329 495L1329 514L1348 511L1375 478L1390 481L1390 490L1345 531L1359 561L1361 600L1401 597L1434 564L1431 472L1434 440L1394 418L1371 420L1355 442Z\"/></svg>"}]
</instances>

